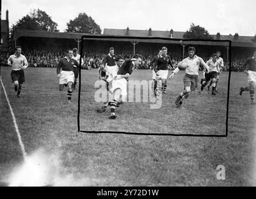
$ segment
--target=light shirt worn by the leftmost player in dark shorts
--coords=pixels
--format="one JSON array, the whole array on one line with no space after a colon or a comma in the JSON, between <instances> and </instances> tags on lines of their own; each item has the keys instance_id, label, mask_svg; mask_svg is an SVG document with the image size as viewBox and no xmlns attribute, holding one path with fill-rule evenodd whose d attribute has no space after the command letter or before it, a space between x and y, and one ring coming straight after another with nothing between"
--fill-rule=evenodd
<instances>
[{"instance_id":1,"label":"light shirt worn by the leftmost player in dark shorts","mask_svg":"<svg viewBox=\"0 0 256 199\"><path fill-rule=\"evenodd\" d=\"M24 55L17 57L16 53L8 58L7 63L12 66L12 70L23 70L29 66L26 57Z\"/></svg>"}]
</instances>

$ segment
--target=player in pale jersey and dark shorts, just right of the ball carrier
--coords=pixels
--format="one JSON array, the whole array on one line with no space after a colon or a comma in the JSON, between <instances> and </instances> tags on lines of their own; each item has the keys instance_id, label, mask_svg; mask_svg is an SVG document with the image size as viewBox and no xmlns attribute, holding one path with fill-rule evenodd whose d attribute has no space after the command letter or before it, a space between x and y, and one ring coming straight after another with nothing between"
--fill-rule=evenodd
<instances>
[{"instance_id":1,"label":"player in pale jersey and dark shorts, just right of the ball carrier","mask_svg":"<svg viewBox=\"0 0 256 199\"><path fill-rule=\"evenodd\" d=\"M212 81L212 95L216 95L215 93L215 86L216 86L216 80L217 80L217 74L220 72L219 63L217 63L217 54L214 53L212 55L212 58L210 58L206 64L209 66L209 73L205 73L205 79L202 82L201 85L201 91L204 90L204 87L209 83L209 81Z\"/></svg>"}]
</instances>

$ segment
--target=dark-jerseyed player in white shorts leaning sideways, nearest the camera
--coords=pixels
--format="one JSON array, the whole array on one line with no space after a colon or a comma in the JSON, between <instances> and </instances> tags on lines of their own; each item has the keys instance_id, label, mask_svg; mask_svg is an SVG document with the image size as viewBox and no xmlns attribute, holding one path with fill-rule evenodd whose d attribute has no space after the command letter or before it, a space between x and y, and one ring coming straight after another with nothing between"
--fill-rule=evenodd
<instances>
[{"instance_id":1,"label":"dark-jerseyed player in white shorts leaning sideways, nearest the camera","mask_svg":"<svg viewBox=\"0 0 256 199\"><path fill-rule=\"evenodd\" d=\"M114 99L110 102L111 116L110 119L116 119L115 110L119 101L126 101L127 98L127 81L135 67L138 67L142 58L140 55L134 55L131 59L127 59L117 71L112 82Z\"/></svg>"}]
</instances>

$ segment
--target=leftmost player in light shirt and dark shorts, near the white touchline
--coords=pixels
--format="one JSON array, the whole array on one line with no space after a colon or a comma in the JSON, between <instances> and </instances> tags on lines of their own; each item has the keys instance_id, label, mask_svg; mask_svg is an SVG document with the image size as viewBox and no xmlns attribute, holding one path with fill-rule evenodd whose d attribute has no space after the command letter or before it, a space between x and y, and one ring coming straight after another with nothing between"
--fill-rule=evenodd
<instances>
[{"instance_id":1,"label":"leftmost player in light shirt and dark shorts, near the white touchline","mask_svg":"<svg viewBox=\"0 0 256 199\"><path fill-rule=\"evenodd\" d=\"M21 47L15 47L14 55L11 55L7 63L12 67L11 78L14 83L14 90L17 91L17 96L21 95L22 83L25 82L24 69L28 67L27 59L24 55L21 55Z\"/></svg>"}]
</instances>

